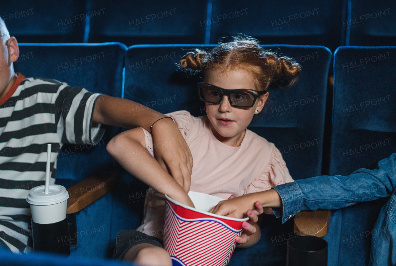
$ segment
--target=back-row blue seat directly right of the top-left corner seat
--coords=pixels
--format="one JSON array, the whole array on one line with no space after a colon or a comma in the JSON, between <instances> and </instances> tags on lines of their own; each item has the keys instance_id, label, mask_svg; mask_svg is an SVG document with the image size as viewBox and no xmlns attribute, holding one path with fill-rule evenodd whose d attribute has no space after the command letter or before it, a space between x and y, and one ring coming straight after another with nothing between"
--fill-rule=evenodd
<instances>
[{"instance_id":1,"label":"back-row blue seat directly right of the top-left corner seat","mask_svg":"<svg viewBox=\"0 0 396 266\"><path fill-rule=\"evenodd\" d=\"M204 43L206 1L91 1L89 42Z\"/></svg>"}]
</instances>

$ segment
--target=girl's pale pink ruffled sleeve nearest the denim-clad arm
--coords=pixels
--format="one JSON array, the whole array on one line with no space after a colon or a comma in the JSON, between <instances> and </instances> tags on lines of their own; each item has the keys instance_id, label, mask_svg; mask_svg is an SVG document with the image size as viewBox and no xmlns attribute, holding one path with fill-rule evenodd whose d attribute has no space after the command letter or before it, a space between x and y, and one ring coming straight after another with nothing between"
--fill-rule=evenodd
<instances>
[{"instance_id":1,"label":"girl's pale pink ruffled sleeve nearest the denim-clad arm","mask_svg":"<svg viewBox=\"0 0 396 266\"><path fill-rule=\"evenodd\" d=\"M247 186L244 194L265 191L277 185L293 181L294 179L291 178L289 174L289 170L282 158L282 154L274 145L272 149L272 157L267 168L259 177L254 179L253 182ZM264 213L274 214L272 212L272 208L264 208Z\"/></svg>"}]
</instances>

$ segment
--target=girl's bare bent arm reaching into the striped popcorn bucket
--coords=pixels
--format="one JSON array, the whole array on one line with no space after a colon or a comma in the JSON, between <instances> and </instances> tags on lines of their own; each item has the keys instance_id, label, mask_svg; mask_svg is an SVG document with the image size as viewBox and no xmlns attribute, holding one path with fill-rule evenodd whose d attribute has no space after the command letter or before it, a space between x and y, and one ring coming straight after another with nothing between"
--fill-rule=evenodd
<instances>
[{"instance_id":1,"label":"girl's bare bent arm reaching into the striped popcorn bucket","mask_svg":"<svg viewBox=\"0 0 396 266\"><path fill-rule=\"evenodd\" d=\"M148 153L145 148L145 134L141 128L118 134L109 141L106 148L133 176L173 200L194 207L183 187Z\"/></svg>"}]
</instances>

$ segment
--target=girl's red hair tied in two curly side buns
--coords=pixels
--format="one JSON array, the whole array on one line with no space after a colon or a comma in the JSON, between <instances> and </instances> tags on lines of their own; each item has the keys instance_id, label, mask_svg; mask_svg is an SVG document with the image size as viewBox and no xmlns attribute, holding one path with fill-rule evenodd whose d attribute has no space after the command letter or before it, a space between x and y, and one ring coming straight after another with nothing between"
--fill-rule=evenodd
<instances>
[{"instance_id":1,"label":"girl's red hair tied in two curly side buns","mask_svg":"<svg viewBox=\"0 0 396 266\"><path fill-rule=\"evenodd\" d=\"M300 64L289 57L277 57L275 53L259 46L254 38L248 36L233 37L231 42L221 43L208 53L195 49L180 60L180 66L192 72L213 68L220 72L242 69L251 74L257 90L267 90L268 86L283 75L291 77L289 86L297 81L301 72Z\"/></svg>"}]
</instances>

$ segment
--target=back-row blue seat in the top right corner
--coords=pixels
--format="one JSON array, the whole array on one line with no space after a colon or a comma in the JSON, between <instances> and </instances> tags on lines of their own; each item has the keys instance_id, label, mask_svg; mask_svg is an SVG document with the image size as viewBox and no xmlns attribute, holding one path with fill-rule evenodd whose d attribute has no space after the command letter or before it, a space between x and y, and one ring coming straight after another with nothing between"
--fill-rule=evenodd
<instances>
[{"instance_id":1,"label":"back-row blue seat in the top right corner","mask_svg":"<svg viewBox=\"0 0 396 266\"><path fill-rule=\"evenodd\" d=\"M395 1L348 0L346 45L396 46Z\"/></svg>"}]
</instances>

